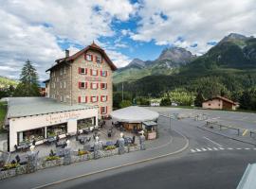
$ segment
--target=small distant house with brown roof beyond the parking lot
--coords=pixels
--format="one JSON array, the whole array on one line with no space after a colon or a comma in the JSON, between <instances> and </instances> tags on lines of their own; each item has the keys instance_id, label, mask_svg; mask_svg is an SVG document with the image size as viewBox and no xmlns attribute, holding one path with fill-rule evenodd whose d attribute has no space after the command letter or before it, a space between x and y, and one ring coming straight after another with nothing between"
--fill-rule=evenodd
<instances>
[{"instance_id":1,"label":"small distant house with brown roof beyond the parking lot","mask_svg":"<svg viewBox=\"0 0 256 189\"><path fill-rule=\"evenodd\" d=\"M235 111L238 106L237 102L229 100L223 96L216 96L203 102L203 109L216 109L216 110L232 110Z\"/></svg>"}]
</instances>

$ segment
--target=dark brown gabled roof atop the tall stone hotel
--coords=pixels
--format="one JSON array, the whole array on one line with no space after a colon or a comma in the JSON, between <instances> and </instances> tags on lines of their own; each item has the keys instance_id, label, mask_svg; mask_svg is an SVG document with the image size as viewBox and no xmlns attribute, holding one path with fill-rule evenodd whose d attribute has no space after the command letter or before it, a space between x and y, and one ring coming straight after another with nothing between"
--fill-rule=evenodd
<instances>
[{"instance_id":1,"label":"dark brown gabled roof atop the tall stone hotel","mask_svg":"<svg viewBox=\"0 0 256 189\"><path fill-rule=\"evenodd\" d=\"M101 56L106 60L106 62L109 64L109 66L111 67L111 69L113 71L118 69L116 67L116 65L112 62L112 60L109 59L109 57L107 56L105 51L99 45L97 45L96 43L93 42L72 56L55 60L57 63L55 65L53 65L52 67L50 67L49 69L47 69L46 72L52 70L53 68L56 68L57 66L59 66L63 63L68 63L68 62L72 62L73 60L76 60L78 57L80 57L82 54L86 53L88 50L100 52Z\"/></svg>"}]
</instances>

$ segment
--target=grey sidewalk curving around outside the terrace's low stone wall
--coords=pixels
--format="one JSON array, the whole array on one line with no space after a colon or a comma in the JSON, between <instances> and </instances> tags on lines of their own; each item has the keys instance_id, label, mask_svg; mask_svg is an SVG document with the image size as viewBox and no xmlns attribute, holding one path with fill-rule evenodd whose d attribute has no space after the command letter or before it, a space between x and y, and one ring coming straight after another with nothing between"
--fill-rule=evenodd
<instances>
[{"instance_id":1,"label":"grey sidewalk curving around outside the terrace's low stone wall","mask_svg":"<svg viewBox=\"0 0 256 189\"><path fill-rule=\"evenodd\" d=\"M166 138L167 136L163 137L163 140L159 140L162 141L162 143L159 142L156 146L151 146L143 151L126 153L99 160L73 163L66 166L47 168L33 174L1 180L0 185L3 189L16 187L19 189L35 188L59 180L68 180L81 175L86 176L97 172L121 168L122 166L150 161L163 156L179 153L189 146L188 139L175 131L172 131L172 141L170 141L170 135L169 143L166 143Z\"/></svg>"}]
</instances>

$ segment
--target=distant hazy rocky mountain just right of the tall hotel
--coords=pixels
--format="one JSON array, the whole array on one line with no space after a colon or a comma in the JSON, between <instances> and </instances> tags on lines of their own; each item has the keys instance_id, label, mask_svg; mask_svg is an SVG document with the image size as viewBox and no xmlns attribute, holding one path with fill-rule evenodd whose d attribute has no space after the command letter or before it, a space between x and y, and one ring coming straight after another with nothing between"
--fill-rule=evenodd
<instances>
[{"instance_id":1,"label":"distant hazy rocky mountain just right of the tall hotel","mask_svg":"<svg viewBox=\"0 0 256 189\"><path fill-rule=\"evenodd\" d=\"M181 65L192 61L195 56L184 48L171 47L164 49L156 60L132 60L127 66L114 73L114 83L123 80L137 80L146 76L172 75Z\"/></svg>"}]
</instances>

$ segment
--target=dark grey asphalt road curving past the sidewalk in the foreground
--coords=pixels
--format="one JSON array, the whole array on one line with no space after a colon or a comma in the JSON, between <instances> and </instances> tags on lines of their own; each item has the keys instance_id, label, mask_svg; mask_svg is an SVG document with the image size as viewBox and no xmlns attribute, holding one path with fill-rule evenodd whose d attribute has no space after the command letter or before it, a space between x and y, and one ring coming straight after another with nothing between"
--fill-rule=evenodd
<instances>
[{"instance_id":1,"label":"dark grey asphalt road curving past the sidewalk in the foreground","mask_svg":"<svg viewBox=\"0 0 256 189\"><path fill-rule=\"evenodd\" d=\"M169 120L161 121L170 127ZM173 120L171 126L190 139L190 147L183 153L49 188L233 189L247 163L256 162L255 146L198 129L192 119Z\"/></svg>"}]
</instances>

